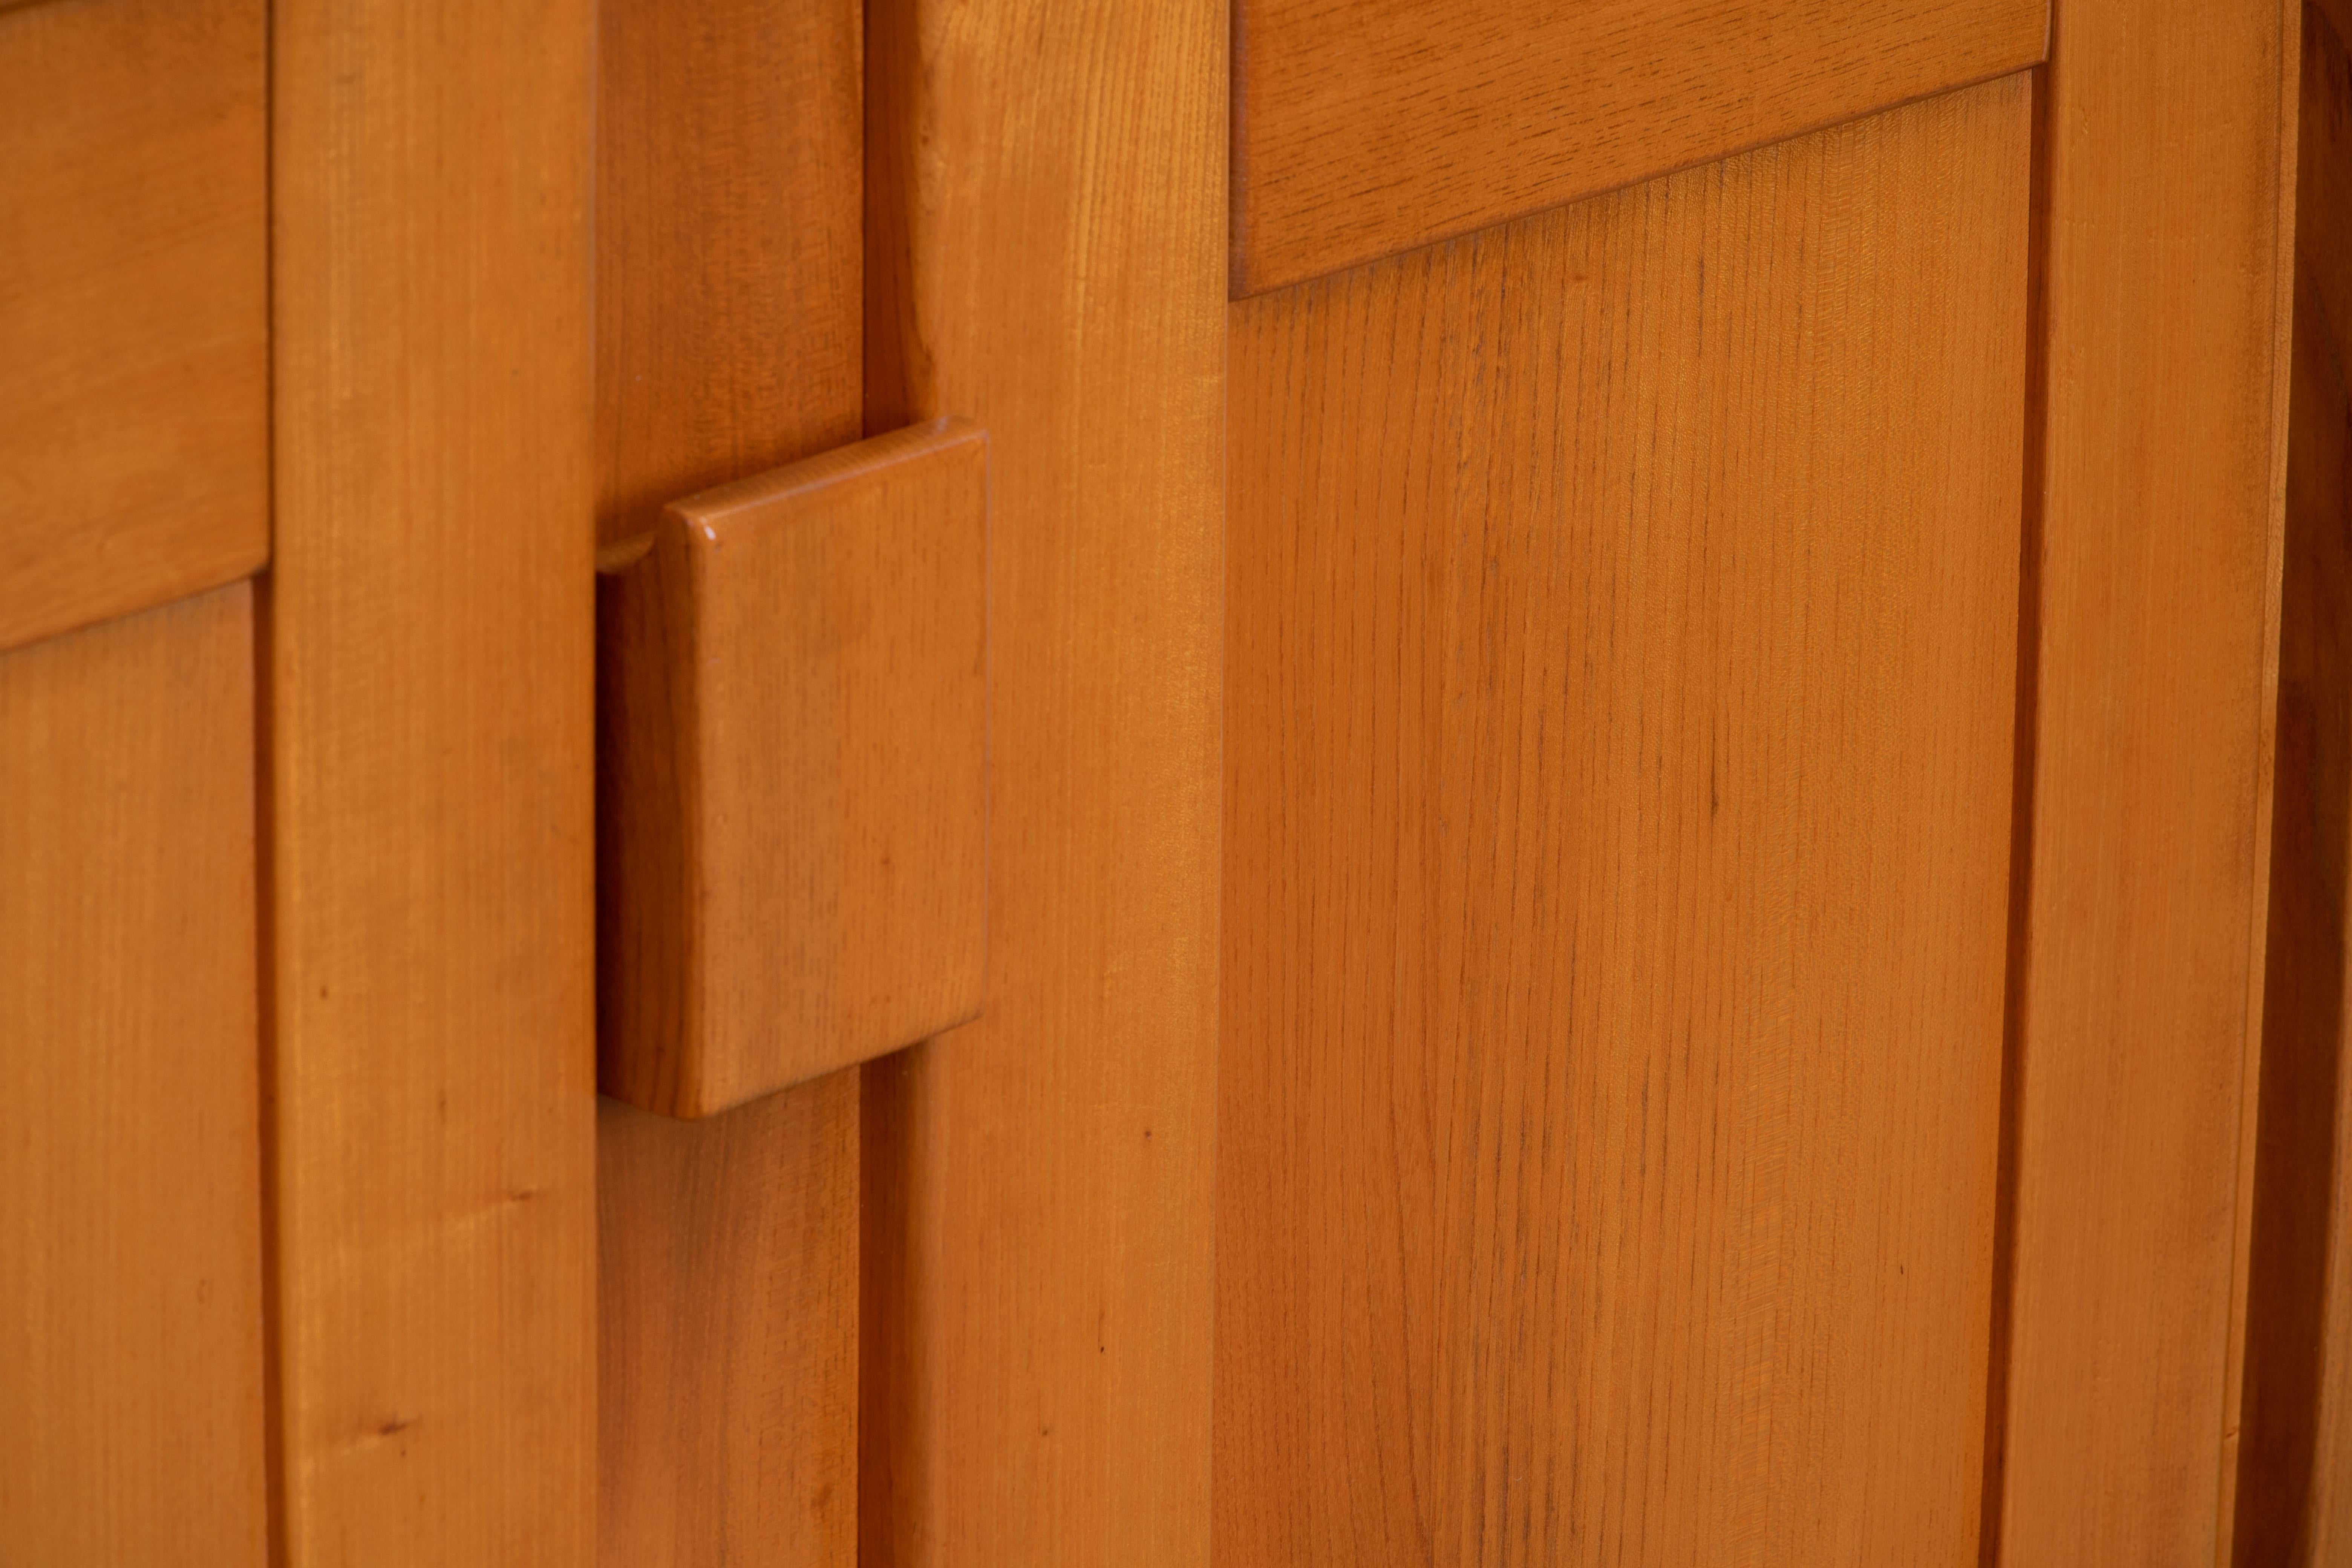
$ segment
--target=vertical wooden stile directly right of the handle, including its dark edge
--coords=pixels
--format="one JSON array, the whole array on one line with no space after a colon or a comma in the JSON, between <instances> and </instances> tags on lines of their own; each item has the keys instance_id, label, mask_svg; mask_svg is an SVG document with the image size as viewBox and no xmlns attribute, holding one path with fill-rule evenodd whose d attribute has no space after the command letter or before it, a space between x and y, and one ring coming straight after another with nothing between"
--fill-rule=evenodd
<instances>
[{"instance_id":1,"label":"vertical wooden stile directly right of the handle, including its dark edge","mask_svg":"<svg viewBox=\"0 0 2352 1568\"><path fill-rule=\"evenodd\" d=\"M1209 1554L1225 7L873 0L868 428L988 428L988 1006L868 1067L861 1561Z\"/></svg>"}]
</instances>

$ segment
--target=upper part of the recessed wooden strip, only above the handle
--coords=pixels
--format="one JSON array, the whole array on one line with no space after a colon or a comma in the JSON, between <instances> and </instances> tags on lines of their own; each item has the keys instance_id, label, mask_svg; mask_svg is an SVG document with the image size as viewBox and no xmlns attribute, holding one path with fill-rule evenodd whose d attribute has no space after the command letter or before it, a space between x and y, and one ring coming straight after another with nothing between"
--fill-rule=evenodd
<instances>
[{"instance_id":1,"label":"upper part of the recessed wooden strip, only above the handle","mask_svg":"<svg viewBox=\"0 0 2352 1568\"><path fill-rule=\"evenodd\" d=\"M597 7L597 527L858 440L863 7Z\"/></svg>"}]
</instances>

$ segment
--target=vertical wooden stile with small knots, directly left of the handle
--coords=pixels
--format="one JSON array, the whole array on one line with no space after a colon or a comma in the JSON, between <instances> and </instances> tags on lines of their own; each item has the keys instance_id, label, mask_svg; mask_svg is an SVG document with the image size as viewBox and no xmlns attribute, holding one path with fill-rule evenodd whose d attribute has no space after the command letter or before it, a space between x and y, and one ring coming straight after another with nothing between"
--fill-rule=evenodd
<instances>
[{"instance_id":1,"label":"vertical wooden stile with small knots, directly left of the handle","mask_svg":"<svg viewBox=\"0 0 2352 1568\"><path fill-rule=\"evenodd\" d=\"M282 1552L595 1544L588 0L275 0Z\"/></svg>"}]
</instances>

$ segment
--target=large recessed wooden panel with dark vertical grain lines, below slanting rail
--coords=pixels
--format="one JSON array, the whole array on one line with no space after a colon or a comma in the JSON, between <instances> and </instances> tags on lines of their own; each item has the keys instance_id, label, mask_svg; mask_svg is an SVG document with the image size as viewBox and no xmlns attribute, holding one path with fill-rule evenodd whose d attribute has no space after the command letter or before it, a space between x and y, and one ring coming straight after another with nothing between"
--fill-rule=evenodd
<instances>
[{"instance_id":1,"label":"large recessed wooden panel with dark vertical grain lines, below slanting rail","mask_svg":"<svg viewBox=\"0 0 2352 1568\"><path fill-rule=\"evenodd\" d=\"M1976 1561L2027 110L1232 306L1214 1561Z\"/></svg>"}]
</instances>

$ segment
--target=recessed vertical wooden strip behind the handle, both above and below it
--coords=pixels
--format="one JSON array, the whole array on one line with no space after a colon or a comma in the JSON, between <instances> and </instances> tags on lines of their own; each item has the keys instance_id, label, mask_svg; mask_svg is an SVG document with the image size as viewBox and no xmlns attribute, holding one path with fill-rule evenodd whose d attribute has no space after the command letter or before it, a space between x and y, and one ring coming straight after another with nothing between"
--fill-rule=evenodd
<instances>
[{"instance_id":1,"label":"recessed vertical wooden strip behind the handle, both above and below it","mask_svg":"<svg viewBox=\"0 0 2352 1568\"><path fill-rule=\"evenodd\" d=\"M863 7L607 0L597 26L597 529L614 541L858 437ZM609 1568L854 1559L856 1124L854 1072L696 1126L604 1107Z\"/></svg>"}]
</instances>

